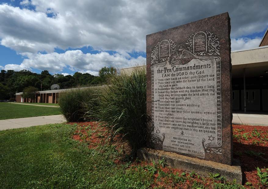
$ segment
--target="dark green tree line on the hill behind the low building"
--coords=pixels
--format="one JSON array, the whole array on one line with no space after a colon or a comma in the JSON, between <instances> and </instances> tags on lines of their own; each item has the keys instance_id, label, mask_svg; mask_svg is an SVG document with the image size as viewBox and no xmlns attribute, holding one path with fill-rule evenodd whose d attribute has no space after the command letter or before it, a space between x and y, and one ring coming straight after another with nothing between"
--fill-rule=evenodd
<instances>
[{"instance_id":1,"label":"dark green tree line on the hill behind the low building","mask_svg":"<svg viewBox=\"0 0 268 189\"><path fill-rule=\"evenodd\" d=\"M23 92L29 86L39 91L50 90L53 84L60 85L60 89L69 89L79 86L103 85L107 82L110 75L116 74L114 67L103 67L99 71L99 76L89 73L75 72L74 75L51 75L49 71L44 70L40 74L29 70L1 70L0 72L0 100L11 99L15 93Z\"/></svg>"}]
</instances>

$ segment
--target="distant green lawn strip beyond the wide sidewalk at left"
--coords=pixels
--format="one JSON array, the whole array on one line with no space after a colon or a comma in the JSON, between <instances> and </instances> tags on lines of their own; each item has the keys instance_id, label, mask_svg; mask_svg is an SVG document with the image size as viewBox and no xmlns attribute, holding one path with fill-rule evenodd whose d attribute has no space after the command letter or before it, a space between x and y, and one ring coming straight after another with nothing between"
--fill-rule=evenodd
<instances>
[{"instance_id":1,"label":"distant green lawn strip beyond the wide sidewalk at left","mask_svg":"<svg viewBox=\"0 0 268 189\"><path fill-rule=\"evenodd\" d=\"M0 120L61 114L59 108L0 103Z\"/></svg>"}]
</instances>

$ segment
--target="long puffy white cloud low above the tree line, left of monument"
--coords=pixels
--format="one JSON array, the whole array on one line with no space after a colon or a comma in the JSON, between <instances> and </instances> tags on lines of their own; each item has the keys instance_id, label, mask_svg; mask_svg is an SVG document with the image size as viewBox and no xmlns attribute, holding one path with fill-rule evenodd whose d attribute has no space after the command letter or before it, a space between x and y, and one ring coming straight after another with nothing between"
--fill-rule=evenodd
<instances>
[{"instance_id":1,"label":"long puffy white cloud low above the tree line, left of monument","mask_svg":"<svg viewBox=\"0 0 268 189\"><path fill-rule=\"evenodd\" d=\"M142 56L129 59L118 53L113 55L107 52L84 54L81 50L69 50L65 53L38 53L31 58L24 59L20 65L7 64L5 68L13 68L16 71L36 68L39 70L48 70L51 73L57 73L58 71L63 71L65 68L69 68L71 71L98 75L99 70L103 66L124 68L136 63L144 64L145 62L146 59Z\"/></svg>"}]
</instances>

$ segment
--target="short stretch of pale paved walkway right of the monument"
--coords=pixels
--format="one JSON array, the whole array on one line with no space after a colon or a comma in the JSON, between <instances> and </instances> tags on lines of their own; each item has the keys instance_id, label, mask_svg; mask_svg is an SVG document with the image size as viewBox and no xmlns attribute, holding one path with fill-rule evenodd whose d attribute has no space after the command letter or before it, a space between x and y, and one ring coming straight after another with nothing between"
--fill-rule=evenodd
<instances>
[{"instance_id":1,"label":"short stretch of pale paved walkway right of the monument","mask_svg":"<svg viewBox=\"0 0 268 189\"><path fill-rule=\"evenodd\" d=\"M268 115L233 113L233 124L268 126Z\"/></svg>"}]
</instances>

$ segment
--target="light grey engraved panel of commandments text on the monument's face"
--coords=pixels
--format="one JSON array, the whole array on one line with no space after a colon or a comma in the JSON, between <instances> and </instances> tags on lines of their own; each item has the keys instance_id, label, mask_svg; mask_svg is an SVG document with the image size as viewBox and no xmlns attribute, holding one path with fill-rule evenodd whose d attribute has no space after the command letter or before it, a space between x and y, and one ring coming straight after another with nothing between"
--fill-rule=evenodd
<instances>
[{"instance_id":1,"label":"light grey engraved panel of commandments text on the monument's face","mask_svg":"<svg viewBox=\"0 0 268 189\"><path fill-rule=\"evenodd\" d=\"M192 59L153 71L154 129L165 136L163 150L205 158L203 146L218 134L216 60Z\"/></svg>"}]
</instances>

